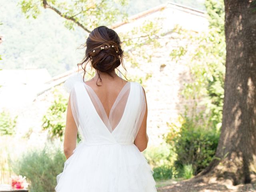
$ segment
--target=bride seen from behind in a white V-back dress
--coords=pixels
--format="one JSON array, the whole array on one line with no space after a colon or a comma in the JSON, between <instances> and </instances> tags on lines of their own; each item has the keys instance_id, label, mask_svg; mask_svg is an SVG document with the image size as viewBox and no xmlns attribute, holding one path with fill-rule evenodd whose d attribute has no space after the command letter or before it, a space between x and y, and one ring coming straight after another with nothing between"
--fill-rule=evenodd
<instances>
[{"instance_id":1,"label":"bride seen from behind in a white V-back dress","mask_svg":"<svg viewBox=\"0 0 256 192\"><path fill-rule=\"evenodd\" d=\"M84 82L76 74L64 83L70 93L67 160L57 176L56 192L156 192L154 172L141 153L148 144L146 94L139 83L116 74L124 66L121 43L114 30L95 28L81 63L90 63L95 76Z\"/></svg>"}]
</instances>

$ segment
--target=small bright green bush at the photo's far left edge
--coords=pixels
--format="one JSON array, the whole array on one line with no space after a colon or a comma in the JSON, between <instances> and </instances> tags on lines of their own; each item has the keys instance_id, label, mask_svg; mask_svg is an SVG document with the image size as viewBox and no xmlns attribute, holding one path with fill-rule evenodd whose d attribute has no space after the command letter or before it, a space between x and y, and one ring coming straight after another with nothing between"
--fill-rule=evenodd
<instances>
[{"instance_id":1,"label":"small bright green bush at the photo's far left edge","mask_svg":"<svg viewBox=\"0 0 256 192\"><path fill-rule=\"evenodd\" d=\"M10 113L0 113L0 135L13 135L15 134L16 121L18 116L12 118Z\"/></svg>"}]
</instances>

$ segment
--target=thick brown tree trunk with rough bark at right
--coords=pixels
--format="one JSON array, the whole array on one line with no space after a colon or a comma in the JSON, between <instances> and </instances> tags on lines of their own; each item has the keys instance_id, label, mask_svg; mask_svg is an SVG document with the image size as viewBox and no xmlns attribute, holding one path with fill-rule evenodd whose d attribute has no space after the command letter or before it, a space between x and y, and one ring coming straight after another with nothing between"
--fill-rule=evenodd
<instances>
[{"instance_id":1,"label":"thick brown tree trunk with rough bark at right","mask_svg":"<svg viewBox=\"0 0 256 192\"><path fill-rule=\"evenodd\" d=\"M250 183L256 174L256 7L225 0L226 76L216 159L200 174Z\"/></svg>"}]
</instances>

